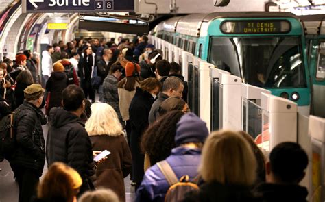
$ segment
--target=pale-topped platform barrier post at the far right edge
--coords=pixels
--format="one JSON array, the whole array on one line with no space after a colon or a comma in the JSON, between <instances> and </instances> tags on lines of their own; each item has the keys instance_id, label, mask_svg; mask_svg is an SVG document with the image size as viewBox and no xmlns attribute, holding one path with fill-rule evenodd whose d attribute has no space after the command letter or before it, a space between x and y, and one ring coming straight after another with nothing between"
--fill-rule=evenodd
<instances>
[{"instance_id":1,"label":"pale-topped platform barrier post at the far right edge","mask_svg":"<svg viewBox=\"0 0 325 202\"><path fill-rule=\"evenodd\" d=\"M311 136L310 201L325 201L325 118L309 116Z\"/></svg>"}]
</instances>

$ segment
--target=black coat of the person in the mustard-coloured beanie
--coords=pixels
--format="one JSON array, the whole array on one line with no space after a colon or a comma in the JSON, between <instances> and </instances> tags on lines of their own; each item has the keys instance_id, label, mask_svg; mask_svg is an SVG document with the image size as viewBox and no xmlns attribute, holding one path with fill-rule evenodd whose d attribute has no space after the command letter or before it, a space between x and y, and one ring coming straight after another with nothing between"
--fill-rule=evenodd
<instances>
[{"instance_id":1,"label":"black coat of the person in the mustard-coloured beanie","mask_svg":"<svg viewBox=\"0 0 325 202\"><path fill-rule=\"evenodd\" d=\"M47 92L51 92L49 99L49 107L46 114L53 107L60 107L62 101L62 91L68 85L68 78L64 72L53 72L46 83Z\"/></svg>"}]
</instances>

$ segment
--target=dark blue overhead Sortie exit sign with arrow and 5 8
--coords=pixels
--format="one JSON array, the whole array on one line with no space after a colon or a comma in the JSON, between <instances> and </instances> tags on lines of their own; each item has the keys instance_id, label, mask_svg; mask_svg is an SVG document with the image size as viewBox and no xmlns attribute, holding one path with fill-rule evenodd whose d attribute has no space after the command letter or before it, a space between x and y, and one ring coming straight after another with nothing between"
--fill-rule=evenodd
<instances>
[{"instance_id":1,"label":"dark blue overhead Sortie exit sign with arrow and 5 8","mask_svg":"<svg viewBox=\"0 0 325 202\"><path fill-rule=\"evenodd\" d=\"M23 0L24 13L134 12L134 0Z\"/></svg>"}]
</instances>

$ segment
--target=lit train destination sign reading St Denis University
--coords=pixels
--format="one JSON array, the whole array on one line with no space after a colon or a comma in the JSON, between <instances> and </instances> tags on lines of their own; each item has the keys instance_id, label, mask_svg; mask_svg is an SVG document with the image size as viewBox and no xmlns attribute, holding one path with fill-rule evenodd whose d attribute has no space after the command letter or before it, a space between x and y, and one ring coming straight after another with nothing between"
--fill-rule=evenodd
<instances>
[{"instance_id":1,"label":"lit train destination sign reading St Denis University","mask_svg":"<svg viewBox=\"0 0 325 202\"><path fill-rule=\"evenodd\" d=\"M224 21L221 31L224 34L283 34L291 29L289 21Z\"/></svg>"}]
</instances>

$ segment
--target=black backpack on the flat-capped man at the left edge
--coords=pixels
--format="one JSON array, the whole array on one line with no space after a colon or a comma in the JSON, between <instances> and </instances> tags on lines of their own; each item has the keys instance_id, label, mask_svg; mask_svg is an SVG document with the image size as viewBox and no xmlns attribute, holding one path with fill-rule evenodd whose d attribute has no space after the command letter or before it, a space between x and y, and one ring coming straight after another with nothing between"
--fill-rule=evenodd
<instances>
[{"instance_id":1,"label":"black backpack on the flat-capped man at the left edge","mask_svg":"<svg viewBox=\"0 0 325 202\"><path fill-rule=\"evenodd\" d=\"M14 126L16 115L20 109L14 110L0 121L0 162L8 159L16 148L16 134L14 134Z\"/></svg>"}]
</instances>

